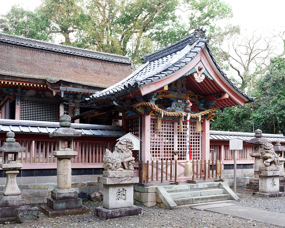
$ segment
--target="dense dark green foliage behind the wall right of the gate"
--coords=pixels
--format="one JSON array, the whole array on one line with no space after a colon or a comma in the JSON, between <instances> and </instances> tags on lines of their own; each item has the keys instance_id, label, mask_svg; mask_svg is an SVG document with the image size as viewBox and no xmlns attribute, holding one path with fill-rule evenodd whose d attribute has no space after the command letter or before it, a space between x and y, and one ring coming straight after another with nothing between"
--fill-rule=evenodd
<instances>
[{"instance_id":1,"label":"dense dark green foliage behind the wall right of the gate","mask_svg":"<svg viewBox=\"0 0 285 228\"><path fill-rule=\"evenodd\" d=\"M226 108L211 122L211 130L254 132L259 128L263 133L285 133L285 59L272 58L266 72L252 84L248 94L256 96L256 101Z\"/></svg>"}]
</instances>

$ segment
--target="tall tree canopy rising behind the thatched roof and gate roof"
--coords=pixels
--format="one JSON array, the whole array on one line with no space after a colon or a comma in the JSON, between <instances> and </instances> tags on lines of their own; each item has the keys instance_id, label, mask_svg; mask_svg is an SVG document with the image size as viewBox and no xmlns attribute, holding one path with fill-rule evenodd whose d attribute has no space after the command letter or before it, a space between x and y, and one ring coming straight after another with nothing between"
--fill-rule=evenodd
<instances>
[{"instance_id":1,"label":"tall tree canopy rising behind the thatched roof and gate roof","mask_svg":"<svg viewBox=\"0 0 285 228\"><path fill-rule=\"evenodd\" d=\"M11 9L7 21L19 21L17 10ZM63 44L127 54L135 65L141 64L143 55L188 36L200 26L213 33L217 20L232 16L231 7L222 0L42 0L40 9L30 13L38 13L38 20L49 23L49 29L36 29L48 37L51 32L60 33L65 38ZM27 34L17 32L15 23L9 26L9 30L1 27L3 32ZM25 27L29 30L34 25ZM36 34L28 37L47 40Z\"/></svg>"}]
</instances>

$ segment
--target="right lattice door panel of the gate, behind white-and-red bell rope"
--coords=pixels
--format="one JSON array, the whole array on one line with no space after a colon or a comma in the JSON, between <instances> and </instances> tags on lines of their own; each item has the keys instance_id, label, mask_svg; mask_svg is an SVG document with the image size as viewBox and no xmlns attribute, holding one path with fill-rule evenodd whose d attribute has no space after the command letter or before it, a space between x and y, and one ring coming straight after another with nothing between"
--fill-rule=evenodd
<instances>
[{"instance_id":1,"label":"right lattice door panel of the gate, behind white-and-red bell rope","mask_svg":"<svg viewBox=\"0 0 285 228\"><path fill-rule=\"evenodd\" d=\"M178 131L177 128L177 151L178 151L178 160L186 159L186 129L187 123L183 123L183 132ZM178 126L179 127L179 123ZM201 159L201 133L195 132L196 123L190 122L190 148L192 159Z\"/></svg>"}]
</instances>

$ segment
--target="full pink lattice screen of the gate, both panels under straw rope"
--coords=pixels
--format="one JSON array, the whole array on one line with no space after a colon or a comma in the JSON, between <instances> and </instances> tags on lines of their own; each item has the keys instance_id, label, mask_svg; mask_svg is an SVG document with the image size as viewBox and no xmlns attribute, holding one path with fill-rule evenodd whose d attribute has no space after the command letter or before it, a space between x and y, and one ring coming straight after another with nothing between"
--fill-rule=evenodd
<instances>
[{"instance_id":1,"label":"full pink lattice screen of the gate, both panels under straw rope","mask_svg":"<svg viewBox=\"0 0 285 228\"><path fill-rule=\"evenodd\" d=\"M150 121L150 154L152 160L174 160L174 151L178 160L186 159L186 122L183 132L178 131L178 121L161 121L162 131L155 129L156 120ZM192 159L201 159L201 133L195 132L196 123L190 123L190 146Z\"/></svg>"}]
</instances>

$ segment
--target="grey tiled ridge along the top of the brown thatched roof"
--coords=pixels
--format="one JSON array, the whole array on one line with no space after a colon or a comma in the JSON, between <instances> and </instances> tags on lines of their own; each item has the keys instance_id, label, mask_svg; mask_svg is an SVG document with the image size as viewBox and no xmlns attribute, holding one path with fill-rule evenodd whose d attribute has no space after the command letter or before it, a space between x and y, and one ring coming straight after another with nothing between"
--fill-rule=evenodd
<instances>
[{"instance_id":1,"label":"grey tiled ridge along the top of the brown thatched roof","mask_svg":"<svg viewBox=\"0 0 285 228\"><path fill-rule=\"evenodd\" d=\"M16 44L36 49L43 49L53 52L60 52L63 54L71 54L76 56L82 56L86 58L94 58L100 60L106 60L111 62L120 62L120 63L131 63L131 57L115 55L105 52L97 52L92 50L87 50L83 48L76 48L72 46L60 45L49 43L41 40L34 40L30 38L25 38L21 36L15 36L10 34L5 34L0 32L0 42L6 42L10 44Z\"/></svg>"}]
</instances>

